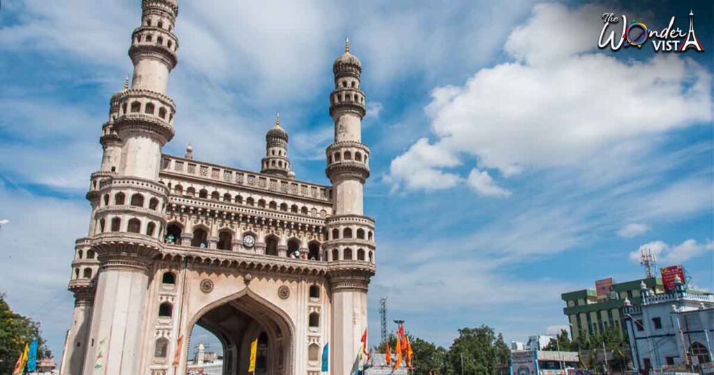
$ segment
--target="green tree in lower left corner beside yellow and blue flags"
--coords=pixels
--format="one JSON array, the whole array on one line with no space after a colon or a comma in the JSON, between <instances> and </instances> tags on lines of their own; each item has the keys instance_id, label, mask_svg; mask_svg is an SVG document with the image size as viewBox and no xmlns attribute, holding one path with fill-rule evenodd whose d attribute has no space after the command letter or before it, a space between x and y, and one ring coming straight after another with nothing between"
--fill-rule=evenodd
<instances>
[{"instance_id":1,"label":"green tree in lower left corner beside yellow and blue flags","mask_svg":"<svg viewBox=\"0 0 714 375\"><path fill-rule=\"evenodd\" d=\"M0 374L12 373L25 344L34 339L38 339L38 356L51 356L40 336L39 324L12 311L5 294L0 294Z\"/></svg>"}]
</instances>

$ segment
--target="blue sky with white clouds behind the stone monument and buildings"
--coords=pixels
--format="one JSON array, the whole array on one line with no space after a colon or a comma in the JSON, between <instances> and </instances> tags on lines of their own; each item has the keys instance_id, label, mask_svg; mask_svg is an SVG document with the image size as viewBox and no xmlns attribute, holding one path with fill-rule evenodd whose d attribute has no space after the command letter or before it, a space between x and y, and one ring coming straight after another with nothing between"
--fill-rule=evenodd
<instances>
[{"instance_id":1,"label":"blue sky with white clouds behind the stone monument and buildings","mask_svg":"<svg viewBox=\"0 0 714 375\"><path fill-rule=\"evenodd\" d=\"M191 142L196 159L258 169L280 111L298 179L328 183L331 64L348 35L373 155L372 342L379 296L445 346L463 326L544 333L566 323L561 292L642 277L643 245L714 289L711 3L353 3L182 1L164 151ZM0 289L59 358L139 1L2 5ZM596 48L604 11L686 29L690 8L704 53Z\"/></svg>"}]
</instances>

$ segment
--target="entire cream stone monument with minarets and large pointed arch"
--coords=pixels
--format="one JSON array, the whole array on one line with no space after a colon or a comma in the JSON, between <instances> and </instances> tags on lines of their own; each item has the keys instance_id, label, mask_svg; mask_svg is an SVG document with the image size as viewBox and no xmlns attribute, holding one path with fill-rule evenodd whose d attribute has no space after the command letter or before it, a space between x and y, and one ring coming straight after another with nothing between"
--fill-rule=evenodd
<instances>
[{"instance_id":1,"label":"entire cream stone monument with minarets and large pointed arch","mask_svg":"<svg viewBox=\"0 0 714 375\"><path fill-rule=\"evenodd\" d=\"M246 374L254 339L256 374L318 374L328 343L331 374L347 374L376 271L360 60L346 43L333 64L330 186L296 178L279 119L259 172L197 161L190 147L167 155L178 4L141 8L134 76L111 97L86 194L89 231L75 244L62 374L185 374L196 325L221 341L223 374Z\"/></svg>"}]
</instances>

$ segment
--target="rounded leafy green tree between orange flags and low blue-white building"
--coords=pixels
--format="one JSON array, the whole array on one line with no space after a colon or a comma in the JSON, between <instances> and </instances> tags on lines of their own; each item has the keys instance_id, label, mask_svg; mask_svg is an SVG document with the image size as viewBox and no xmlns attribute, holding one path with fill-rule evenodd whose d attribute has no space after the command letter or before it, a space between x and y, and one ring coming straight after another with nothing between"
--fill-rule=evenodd
<instances>
[{"instance_id":1,"label":"rounded leafy green tree between orange flags and low blue-white building","mask_svg":"<svg viewBox=\"0 0 714 375\"><path fill-rule=\"evenodd\" d=\"M448 374L496 375L508 366L511 351L491 327L463 328L458 335L448 351Z\"/></svg>"}]
</instances>

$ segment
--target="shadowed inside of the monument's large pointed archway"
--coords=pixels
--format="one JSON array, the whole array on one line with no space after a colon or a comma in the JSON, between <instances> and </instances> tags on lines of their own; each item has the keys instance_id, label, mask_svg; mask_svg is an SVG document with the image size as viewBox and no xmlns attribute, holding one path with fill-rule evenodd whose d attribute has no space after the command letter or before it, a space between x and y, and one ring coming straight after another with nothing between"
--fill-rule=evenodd
<instances>
[{"instance_id":1,"label":"shadowed inside of the monument's large pointed archway","mask_svg":"<svg viewBox=\"0 0 714 375\"><path fill-rule=\"evenodd\" d=\"M221 342L224 375L248 374L251 342L256 339L256 374L294 374L291 359L295 329L290 317L249 289L204 307L188 327L193 324Z\"/></svg>"}]
</instances>

